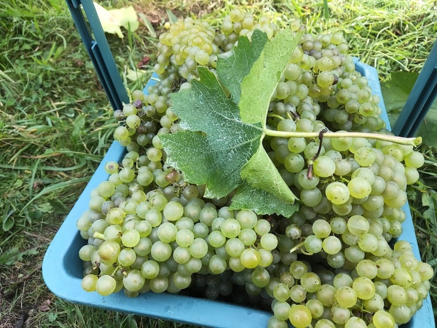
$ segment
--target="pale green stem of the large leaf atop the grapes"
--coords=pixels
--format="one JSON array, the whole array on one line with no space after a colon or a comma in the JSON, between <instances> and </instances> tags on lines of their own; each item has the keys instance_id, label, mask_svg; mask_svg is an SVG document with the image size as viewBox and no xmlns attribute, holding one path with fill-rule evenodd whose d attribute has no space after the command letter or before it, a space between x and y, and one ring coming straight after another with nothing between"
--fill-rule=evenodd
<instances>
[{"instance_id":1,"label":"pale green stem of the large leaf atop the grapes","mask_svg":"<svg viewBox=\"0 0 437 328\"><path fill-rule=\"evenodd\" d=\"M263 129L267 136L282 138L318 138L319 132L286 132L270 130L267 127ZM325 138L366 138L390 141L401 145L419 146L422 143L422 137L404 138L392 135L370 133L370 132L326 132Z\"/></svg>"}]
</instances>

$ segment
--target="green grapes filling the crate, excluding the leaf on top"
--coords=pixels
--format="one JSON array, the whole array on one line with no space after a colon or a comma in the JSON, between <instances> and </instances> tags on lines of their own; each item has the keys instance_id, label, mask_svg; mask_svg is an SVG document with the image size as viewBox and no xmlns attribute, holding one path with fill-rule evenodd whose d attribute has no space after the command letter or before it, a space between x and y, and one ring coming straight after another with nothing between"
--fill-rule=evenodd
<instances>
[{"instance_id":1,"label":"green grapes filling the crate, excluding the leaf on top","mask_svg":"<svg viewBox=\"0 0 437 328\"><path fill-rule=\"evenodd\" d=\"M318 138L266 137L263 146L299 210L290 217L231 210L233 193L203 197L166 164L160 136L179 131L169 95L190 87L197 68L216 68L218 54L255 29L278 26L238 9L221 28L185 18L160 35L159 81L132 92L114 113L114 138L126 147L106 163L107 181L92 191L77 220L87 240L82 288L109 295L186 293L272 312L269 328L394 328L408 322L430 289L432 267L396 239L406 218L407 186L424 157L390 135L380 99L355 70L341 33L303 34L276 87L268 126L316 132ZM302 31L293 22L294 31ZM342 134L327 138L328 132Z\"/></svg>"}]
</instances>

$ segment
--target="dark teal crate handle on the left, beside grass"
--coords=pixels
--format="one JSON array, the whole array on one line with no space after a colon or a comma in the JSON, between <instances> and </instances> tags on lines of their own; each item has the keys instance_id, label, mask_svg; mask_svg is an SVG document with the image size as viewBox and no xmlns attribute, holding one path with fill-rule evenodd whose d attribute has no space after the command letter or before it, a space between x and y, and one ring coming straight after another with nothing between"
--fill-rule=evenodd
<instances>
[{"instance_id":1,"label":"dark teal crate handle on the left, beside grass","mask_svg":"<svg viewBox=\"0 0 437 328\"><path fill-rule=\"evenodd\" d=\"M74 23L84 41L85 48L96 69L101 85L114 110L121 109L122 103L129 103L129 96L121 80L112 52L109 48L96 8L92 0L66 0ZM88 23L85 21L84 9ZM91 30L89 28L91 27ZM93 32L91 34L91 31ZM93 38L94 35L94 38Z\"/></svg>"}]
</instances>

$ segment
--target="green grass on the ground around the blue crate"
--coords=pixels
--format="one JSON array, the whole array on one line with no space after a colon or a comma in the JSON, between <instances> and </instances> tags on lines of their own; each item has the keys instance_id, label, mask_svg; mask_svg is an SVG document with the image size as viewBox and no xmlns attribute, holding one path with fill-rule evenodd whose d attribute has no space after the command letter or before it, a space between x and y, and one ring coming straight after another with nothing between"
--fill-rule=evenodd
<instances>
[{"instance_id":1,"label":"green grass on the ground around the blue crate","mask_svg":"<svg viewBox=\"0 0 437 328\"><path fill-rule=\"evenodd\" d=\"M131 2L102 1L123 3ZM214 25L233 6L268 11L284 23L298 16L315 33L326 27L345 31L351 53L375 66L381 79L390 71L419 71L437 33L432 0L328 1L328 20L321 0L135 4L156 32L165 8L177 16L200 14ZM73 305L45 287L45 250L110 145L116 122L63 0L0 0L0 32L0 328L185 327ZM108 40L123 80L131 88L144 85L156 38L141 25L133 35L108 35ZM130 81L126 72L144 56L151 58L142 68L146 74ZM422 258L436 264L437 224L430 204L437 202L429 199L436 197L437 153L426 146L422 150L427 158L422 184L409 192ZM435 281L431 293L437 309Z\"/></svg>"}]
</instances>

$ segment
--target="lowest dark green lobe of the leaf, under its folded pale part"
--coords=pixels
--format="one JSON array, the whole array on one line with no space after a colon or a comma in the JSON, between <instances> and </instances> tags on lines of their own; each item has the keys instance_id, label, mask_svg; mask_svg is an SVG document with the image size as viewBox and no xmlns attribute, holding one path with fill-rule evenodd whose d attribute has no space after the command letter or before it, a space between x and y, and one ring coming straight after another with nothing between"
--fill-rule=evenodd
<instances>
[{"instance_id":1,"label":"lowest dark green lobe of the leaf, under its folded pale part","mask_svg":"<svg viewBox=\"0 0 437 328\"><path fill-rule=\"evenodd\" d=\"M277 213L288 218L299 210L299 204L284 203L273 194L262 189L255 189L243 180L232 197L229 209L252 209L260 215Z\"/></svg>"}]
</instances>

